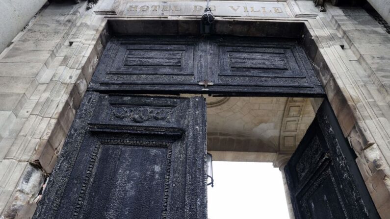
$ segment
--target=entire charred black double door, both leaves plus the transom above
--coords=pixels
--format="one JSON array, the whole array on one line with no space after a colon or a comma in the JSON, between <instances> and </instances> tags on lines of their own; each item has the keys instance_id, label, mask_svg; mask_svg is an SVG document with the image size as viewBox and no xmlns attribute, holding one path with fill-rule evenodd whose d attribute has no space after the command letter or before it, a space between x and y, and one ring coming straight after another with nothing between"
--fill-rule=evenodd
<instances>
[{"instance_id":1,"label":"entire charred black double door, both leaves plus the transom above","mask_svg":"<svg viewBox=\"0 0 390 219\"><path fill-rule=\"evenodd\" d=\"M34 218L207 219L204 98L134 93L322 95L299 48L252 38L114 37ZM377 217L327 100L285 171L296 219Z\"/></svg>"}]
</instances>

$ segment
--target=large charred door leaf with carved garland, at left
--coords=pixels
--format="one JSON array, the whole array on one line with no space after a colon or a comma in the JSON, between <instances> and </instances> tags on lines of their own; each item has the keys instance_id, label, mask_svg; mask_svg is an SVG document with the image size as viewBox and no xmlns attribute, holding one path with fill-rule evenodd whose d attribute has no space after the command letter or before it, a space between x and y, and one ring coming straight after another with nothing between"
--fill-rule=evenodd
<instances>
[{"instance_id":1,"label":"large charred door leaf with carved garland, at left","mask_svg":"<svg viewBox=\"0 0 390 219\"><path fill-rule=\"evenodd\" d=\"M206 219L203 97L87 92L35 219Z\"/></svg>"}]
</instances>

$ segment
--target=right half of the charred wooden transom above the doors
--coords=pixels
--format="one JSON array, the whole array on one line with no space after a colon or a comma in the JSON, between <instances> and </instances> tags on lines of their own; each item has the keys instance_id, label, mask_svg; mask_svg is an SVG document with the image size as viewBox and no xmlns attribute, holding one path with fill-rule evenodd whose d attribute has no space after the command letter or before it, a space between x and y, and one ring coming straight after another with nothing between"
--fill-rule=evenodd
<instances>
[{"instance_id":1,"label":"right half of the charred wooden transom above the doors","mask_svg":"<svg viewBox=\"0 0 390 219\"><path fill-rule=\"evenodd\" d=\"M211 45L218 57L208 59L216 75L210 91L273 96L323 93L304 50L295 42L217 38Z\"/></svg>"}]
</instances>

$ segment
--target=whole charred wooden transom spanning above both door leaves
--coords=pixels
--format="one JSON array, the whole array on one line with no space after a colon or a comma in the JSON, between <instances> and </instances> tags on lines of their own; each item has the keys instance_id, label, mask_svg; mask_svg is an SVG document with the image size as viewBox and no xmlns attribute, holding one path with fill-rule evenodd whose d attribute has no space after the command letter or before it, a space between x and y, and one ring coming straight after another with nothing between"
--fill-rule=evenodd
<instances>
[{"instance_id":1,"label":"whole charred wooden transom spanning above both door leaves","mask_svg":"<svg viewBox=\"0 0 390 219\"><path fill-rule=\"evenodd\" d=\"M296 42L226 36L113 37L89 90L324 96Z\"/></svg>"}]
</instances>

